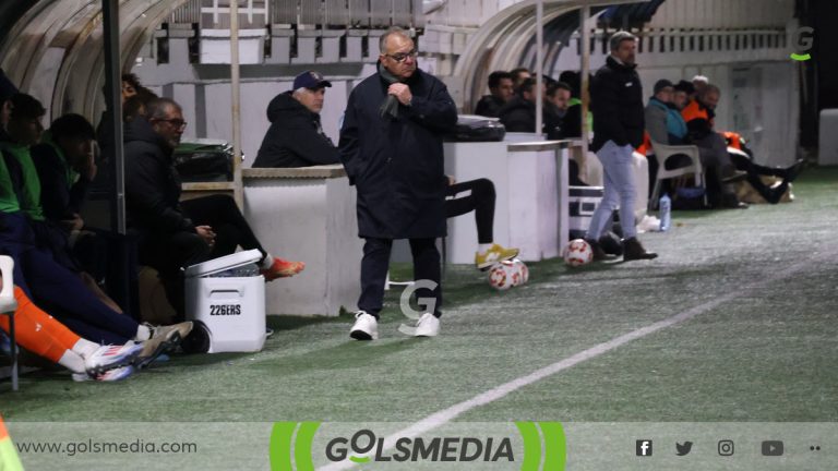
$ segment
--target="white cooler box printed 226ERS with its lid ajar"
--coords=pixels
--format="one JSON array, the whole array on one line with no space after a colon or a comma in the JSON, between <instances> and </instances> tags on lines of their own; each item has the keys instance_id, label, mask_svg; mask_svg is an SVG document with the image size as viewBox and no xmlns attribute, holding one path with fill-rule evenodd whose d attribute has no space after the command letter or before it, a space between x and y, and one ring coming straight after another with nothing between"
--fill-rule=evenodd
<instances>
[{"instance_id":1,"label":"white cooler box printed 226ERS with its lid ajar","mask_svg":"<svg viewBox=\"0 0 838 471\"><path fill-rule=\"evenodd\" d=\"M185 273L187 318L208 329L208 353L260 351L265 343L265 278L213 277L258 263L258 250L192 265ZM197 328L197 326L195 326Z\"/></svg>"}]
</instances>

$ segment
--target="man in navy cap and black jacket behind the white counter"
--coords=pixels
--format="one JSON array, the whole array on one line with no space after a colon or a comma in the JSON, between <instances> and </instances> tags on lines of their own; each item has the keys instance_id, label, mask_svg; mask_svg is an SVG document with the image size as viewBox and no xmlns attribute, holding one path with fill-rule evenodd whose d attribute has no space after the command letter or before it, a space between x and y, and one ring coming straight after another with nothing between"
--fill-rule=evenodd
<instances>
[{"instance_id":1,"label":"man in navy cap and black jacket behind the white counter","mask_svg":"<svg viewBox=\"0 0 838 471\"><path fill-rule=\"evenodd\" d=\"M310 167L338 164L337 147L323 132L320 111L332 83L318 72L303 72L294 89L277 95L267 106L271 128L253 167Z\"/></svg>"}]
</instances>

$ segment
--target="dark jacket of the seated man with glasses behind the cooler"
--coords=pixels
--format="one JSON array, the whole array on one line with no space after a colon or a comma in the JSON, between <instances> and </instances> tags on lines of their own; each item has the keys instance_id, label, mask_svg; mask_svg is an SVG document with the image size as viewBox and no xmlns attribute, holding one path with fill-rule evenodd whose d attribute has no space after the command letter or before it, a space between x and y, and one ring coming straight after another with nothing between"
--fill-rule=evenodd
<instances>
[{"instance_id":1,"label":"dark jacket of the seated man with glasses behind the cooler","mask_svg":"<svg viewBox=\"0 0 838 471\"><path fill-rule=\"evenodd\" d=\"M125 125L125 209L128 225L142 235L194 232L180 209L180 177L171 150L143 118Z\"/></svg>"}]
</instances>

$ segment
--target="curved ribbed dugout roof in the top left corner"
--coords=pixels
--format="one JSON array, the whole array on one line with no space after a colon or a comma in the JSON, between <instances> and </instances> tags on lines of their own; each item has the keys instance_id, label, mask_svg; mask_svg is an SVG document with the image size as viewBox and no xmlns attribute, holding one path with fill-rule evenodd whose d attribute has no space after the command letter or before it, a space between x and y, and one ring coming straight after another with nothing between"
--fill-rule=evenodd
<instances>
[{"instance_id":1,"label":"curved ribbed dugout roof in the top left corner","mask_svg":"<svg viewBox=\"0 0 838 471\"><path fill-rule=\"evenodd\" d=\"M121 69L131 67L154 29L187 0L120 0ZM104 85L101 2L3 2L0 67L21 89L44 99L52 116L93 117ZM21 8L28 4L28 9Z\"/></svg>"}]
</instances>

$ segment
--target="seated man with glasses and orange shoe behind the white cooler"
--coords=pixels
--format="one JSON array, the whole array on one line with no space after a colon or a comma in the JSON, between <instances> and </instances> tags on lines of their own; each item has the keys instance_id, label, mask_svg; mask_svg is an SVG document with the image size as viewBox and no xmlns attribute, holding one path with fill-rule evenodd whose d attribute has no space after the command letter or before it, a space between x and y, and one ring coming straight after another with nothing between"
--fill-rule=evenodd
<instances>
[{"instance_id":1,"label":"seated man with glasses and orange shoe behind the white cooler","mask_svg":"<svg viewBox=\"0 0 838 471\"><path fill-rule=\"evenodd\" d=\"M187 128L175 100L155 98L145 114L125 125L125 209L128 225L140 238L140 263L155 268L166 294L179 315L184 315L181 268L231 254L237 246L258 249L267 281L294 276L302 262L272 256L227 195L180 202L180 177L172 152Z\"/></svg>"}]
</instances>

